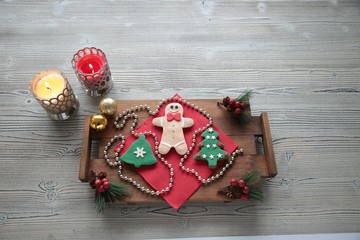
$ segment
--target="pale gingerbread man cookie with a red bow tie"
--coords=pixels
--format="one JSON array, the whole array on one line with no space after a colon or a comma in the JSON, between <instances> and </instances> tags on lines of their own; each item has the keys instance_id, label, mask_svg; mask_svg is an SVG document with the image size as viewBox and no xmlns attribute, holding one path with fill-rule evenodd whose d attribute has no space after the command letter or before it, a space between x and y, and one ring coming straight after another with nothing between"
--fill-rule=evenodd
<instances>
[{"instance_id":1,"label":"pale gingerbread man cookie with a red bow tie","mask_svg":"<svg viewBox=\"0 0 360 240\"><path fill-rule=\"evenodd\" d=\"M154 118L152 123L163 128L159 153L167 154L171 148L184 155L188 150L185 142L183 128L194 125L194 120L183 117L184 109L180 103L169 103L165 107L165 116Z\"/></svg>"}]
</instances>

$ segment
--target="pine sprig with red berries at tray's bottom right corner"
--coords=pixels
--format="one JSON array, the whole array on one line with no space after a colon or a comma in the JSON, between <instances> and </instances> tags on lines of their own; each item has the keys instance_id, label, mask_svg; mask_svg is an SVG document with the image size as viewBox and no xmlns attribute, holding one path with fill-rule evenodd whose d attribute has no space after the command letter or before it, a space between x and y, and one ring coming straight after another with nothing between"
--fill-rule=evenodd
<instances>
[{"instance_id":1,"label":"pine sprig with red berries at tray's bottom right corner","mask_svg":"<svg viewBox=\"0 0 360 240\"><path fill-rule=\"evenodd\" d=\"M240 179L231 179L230 185L220 188L218 193L231 199L262 201L263 192L260 179L260 173L252 170Z\"/></svg>"}]
</instances>

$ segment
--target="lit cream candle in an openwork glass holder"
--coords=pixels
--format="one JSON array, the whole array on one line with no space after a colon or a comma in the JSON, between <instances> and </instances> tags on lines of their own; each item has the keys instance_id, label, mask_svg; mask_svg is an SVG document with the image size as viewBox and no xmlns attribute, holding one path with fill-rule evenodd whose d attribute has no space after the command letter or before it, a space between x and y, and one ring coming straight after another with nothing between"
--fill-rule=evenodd
<instances>
[{"instance_id":1,"label":"lit cream candle in an openwork glass holder","mask_svg":"<svg viewBox=\"0 0 360 240\"><path fill-rule=\"evenodd\" d=\"M54 120L69 119L79 110L79 100L61 71L39 73L30 82L30 91Z\"/></svg>"}]
</instances>

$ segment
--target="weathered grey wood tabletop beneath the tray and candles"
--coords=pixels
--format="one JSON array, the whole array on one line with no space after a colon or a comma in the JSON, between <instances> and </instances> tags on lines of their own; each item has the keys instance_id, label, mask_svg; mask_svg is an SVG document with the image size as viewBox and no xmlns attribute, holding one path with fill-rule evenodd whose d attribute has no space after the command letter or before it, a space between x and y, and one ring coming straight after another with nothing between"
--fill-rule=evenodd
<instances>
[{"instance_id":1,"label":"weathered grey wood tabletop beneath the tray and candles","mask_svg":"<svg viewBox=\"0 0 360 240\"><path fill-rule=\"evenodd\" d=\"M0 239L142 239L360 231L358 1L0 1ZM268 112L278 175L262 203L114 206L78 180L84 117L72 54L101 48L115 99L237 96ZM60 69L79 114L29 92Z\"/></svg>"}]
</instances>

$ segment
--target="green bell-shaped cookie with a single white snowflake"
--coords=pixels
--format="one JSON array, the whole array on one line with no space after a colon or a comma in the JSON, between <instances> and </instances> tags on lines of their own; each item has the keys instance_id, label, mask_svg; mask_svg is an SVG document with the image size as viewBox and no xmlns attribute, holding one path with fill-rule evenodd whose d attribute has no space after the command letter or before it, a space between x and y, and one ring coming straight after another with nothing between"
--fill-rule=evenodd
<instances>
[{"instance_id":1,"label":"green bell-shaped cookie with a single white snowflake","mask_svg":"<svg viewBox=\"0 0 360 240\"><path fill-rule=\"evenodd\" d=\"M120 156L120 159L135 167L142 165L152 165L157 162L150 143L145 139L145 135L141 134L139 139L134 141L130 148Z\"/></svg>"}]
</instances>

